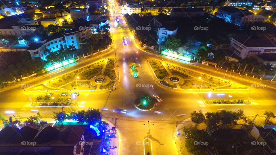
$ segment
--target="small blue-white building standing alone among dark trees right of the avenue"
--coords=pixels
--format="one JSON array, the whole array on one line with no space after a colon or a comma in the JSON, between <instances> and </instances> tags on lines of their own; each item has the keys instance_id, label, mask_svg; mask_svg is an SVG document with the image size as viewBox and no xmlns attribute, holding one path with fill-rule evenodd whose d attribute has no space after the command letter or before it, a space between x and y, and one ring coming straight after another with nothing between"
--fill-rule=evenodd
<instances>
[{"instance_id":1,"label":"small blue-white building standing alone among dark trees right of the avenue","mask_svg":"<svg viewBox=\"0 0 276 155\"><path fill-rule=\"evenodd\" d=\"M158 21L154 18L154 26L158 28L157 39L158 44L164 42L170 36L175 36L177 33L177 26L175 21Z\"/></svg>"}]
</instances>

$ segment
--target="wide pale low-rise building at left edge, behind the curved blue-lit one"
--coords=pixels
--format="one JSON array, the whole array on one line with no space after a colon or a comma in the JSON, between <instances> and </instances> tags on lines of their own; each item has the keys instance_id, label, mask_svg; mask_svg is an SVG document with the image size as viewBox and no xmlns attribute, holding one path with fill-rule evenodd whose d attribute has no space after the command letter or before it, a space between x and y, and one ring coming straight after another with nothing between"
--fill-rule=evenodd
<instances>
[{"instance_id":1,"label":"wide pale low-rise building at left edge, behind the curved blue-lit one","mask_svg":"<svg viewBox=\"0 0 276 155\"><path fill-rule=\"evenodd\" d=\"M25 25L25 24L14 24L0 28L0 35L2 36L17 36L22 37L33 33L43 33L43 26L41 25Z\"/></svg>"}]
</instances>

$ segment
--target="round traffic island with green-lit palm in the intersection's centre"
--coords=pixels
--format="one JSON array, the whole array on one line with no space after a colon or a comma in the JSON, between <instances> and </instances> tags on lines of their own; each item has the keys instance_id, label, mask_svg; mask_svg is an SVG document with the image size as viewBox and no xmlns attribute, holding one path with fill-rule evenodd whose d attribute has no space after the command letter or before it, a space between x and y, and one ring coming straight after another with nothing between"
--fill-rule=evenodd
<instances>
[{"instance_id":1,"label":"round traffic island with green-lit palm in the intersection's centre","mask_svg":"<svg viewBox=\"0 0 276 155\"><path fill-rule=\"evenodd\" d=\"M150 96L142 95L135 100L135 107L141 111L149 111L154 108L155 100Z\"/></svg>"}]
</instances>

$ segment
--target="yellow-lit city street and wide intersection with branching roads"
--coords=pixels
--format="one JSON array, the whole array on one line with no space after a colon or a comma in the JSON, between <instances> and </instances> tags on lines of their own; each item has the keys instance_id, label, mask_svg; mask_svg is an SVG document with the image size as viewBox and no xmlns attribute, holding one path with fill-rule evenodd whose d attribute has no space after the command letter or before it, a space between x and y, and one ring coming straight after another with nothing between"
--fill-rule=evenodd
<instances>
[{"instance_id":1,"label":"yellow-lit city street and wide intersection with branching roads","mask_svg":"<svg viewBox=\"0 0 276 155\"><path fill-rule=\"evenodd\" d=\"M252 81L244 80L237 76L226 76L225 80L246 85L249 90L175 90L161 86L158 79L152 71L148 59L157 59L162 61L163 57L156 57L152 53L142 51L136 45L133 34L129 31L125 24L124 17L117 13L110 7L112 24L111 30L114 41L114 50L97 56L95 58L84 58L78 61L75 65L64 67L54 72L44 74L26 81L25 86L38 86L45 82L70 73L72 71L81 69L85 66L95 62L116 58L115 71L118 74L116 79L116 90L106 92L102 91L83 91L80 96L76 96L75 100L80 104L76 110L85 110L87 108L98 108L103 117L110 122L112 118L118 118L117 129L121 134L120 148L121 154L138 155L143 152L143 139L146 138L147 133L150 134L152 140L153 154L177 154L177 147L175 145L174 134L176 126L183 120L189 118L189 114L193 111L201 110L203 113L216 112L219 110L235 111L243 109L245 115L263 115L264 111L275 110L274 88L252 88ZM114 25L116 16L118 16L121 29ZM127 40L127 47L124 47L122 37ZM137 52L136 52L137 51ZM168 59L165 59L164 62ZM170 64L175 64L189 70L197 71L199 73L208 73L214 77L223 78L223 73L214 70L210 72L209 68L198 67L189 63L181 63L173 59L168 60ZM137 64L138 78L134 78L130 69L130 64L135 62ZM51 77L50 77L51 76ZM137 84L150 85L151 87L137 87ZM13 85L13 84L10 84ZM61 107L30 107L30 104L35 101L37 96L44 96L46 92L30 92L22 84L11 86L12 88L0 92L0 110L1 115L10 117L12 115L19 115L22 118L35 115L40 112L43 121L50 120L53 117L52 111L61 111ZM61 91L53 92L53 100L58 98ZM209 97L209 93L211 96ZM71 93L71 92L70 92ZM157 95L162 99L154 109L150 111L140 111L134 106L136 98L143 94L149 96ZM217 95L223 94L223 95ZM229 97L232 96L231 98ZM31 100L30 100L31 99ZM204 101L214 99L224 100L238 100L244 99L246 102L251 102L251 105L206 105ZM71 107L65 107L67 111ZM102 110L107 108L107 110ZM114 113L113 110L125 109L127 113ZM6 111L14 111L14 114L7 114ZM159 111L160 113L155 113ZM151 124L148 127L147 121ZM114 123L114 121L113 121ZM187 123L191 123L188 121ZM145 125L144 125L145 124ZM154 124L154 125L152 125Z\"/></svg>"}]
</instances>

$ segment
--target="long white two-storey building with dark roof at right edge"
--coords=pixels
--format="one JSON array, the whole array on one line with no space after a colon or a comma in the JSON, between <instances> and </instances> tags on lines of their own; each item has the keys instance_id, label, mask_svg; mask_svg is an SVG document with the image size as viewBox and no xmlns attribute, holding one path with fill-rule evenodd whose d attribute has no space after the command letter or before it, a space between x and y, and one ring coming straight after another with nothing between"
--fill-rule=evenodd
<instances>
[{"instance_id":1,"label":"long white two-storey building with dark roof at right edge","mask_svg":"<svg viewBox=\"0 0 276 155\"><path fill-rule=\"evenodd\" d=\"M276 42L269 39L252 39L248 36L232 36L230 47L241 58L252 55L276 54Z\"/></svg>"}]
</instances>

